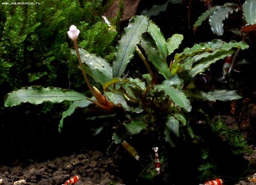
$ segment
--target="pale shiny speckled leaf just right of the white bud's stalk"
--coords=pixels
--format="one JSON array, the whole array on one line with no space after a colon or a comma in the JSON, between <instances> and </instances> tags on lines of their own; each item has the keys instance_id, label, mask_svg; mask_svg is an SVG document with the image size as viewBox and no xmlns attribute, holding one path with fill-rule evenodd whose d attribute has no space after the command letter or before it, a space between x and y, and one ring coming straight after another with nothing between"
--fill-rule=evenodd
<instances>
[{"instance_id":1,"label":"pale shiny speckled leaf just right of the white bud's stalk","mask_svg":"<svg viewBox=\"0 0 256 185\"><path fill-rule=\"evenodd\" d=\"M76 50L71 50L71 52L76 55ZM104 84L104 82L108 82L113 78L112 67L104 59L99 56L95 56L95 54L88 53L83 48L79 48L79 54L82 63L87 66L85 66L86 72L93 78L93 80L95 80L95 82Z\"/></svg>"}]
</instances>

